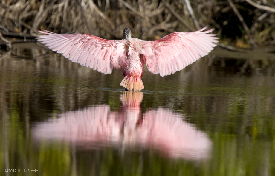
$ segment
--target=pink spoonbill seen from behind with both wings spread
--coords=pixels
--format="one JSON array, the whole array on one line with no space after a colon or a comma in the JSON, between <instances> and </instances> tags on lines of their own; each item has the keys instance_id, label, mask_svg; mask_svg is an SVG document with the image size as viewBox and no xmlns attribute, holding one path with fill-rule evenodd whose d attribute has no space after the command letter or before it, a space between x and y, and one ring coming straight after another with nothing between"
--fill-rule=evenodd
<instances>
[{"instance_id":1,"label":"pink spoonbill seen from behind with both wings spread","mask_svg":"<svg viewBox=\"0 0 275 176\"><path fill-rule=\"evenodd\" d=\"M182 70L200 57L207 55L216 46L214 29L196 32L174 32L155 41L144 41L131 37L131 30L123 30L124 40L106 40L89 34L56 34L39 31L37 39L48 48L61 53L72 62L110 74L120 68L125 90L140 91L144 64L153 74L162 77Z\"/></svg>"}]
</instances>

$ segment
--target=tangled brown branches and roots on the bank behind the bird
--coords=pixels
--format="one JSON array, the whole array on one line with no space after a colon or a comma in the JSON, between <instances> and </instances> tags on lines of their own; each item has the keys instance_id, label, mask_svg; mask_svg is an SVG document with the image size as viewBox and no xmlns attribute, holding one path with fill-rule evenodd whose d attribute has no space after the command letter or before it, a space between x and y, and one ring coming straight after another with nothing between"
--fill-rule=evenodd
<instances>
[{"instance_id":1,"label":"tangled brown branches and roots on the bank behind the bird","mask_svg":"<svg viewBox=\"0 0 275 176\"><path fill-rule=\"evenodd\" d=\"M130 27L133 37L158 39L170 32L194 31L210 25L218 29L218 36L225 41L232 38L252 45L253 42L275 43L275 5L272 0L261 2L3 0L0 3L0 31L35 35L37 30L46 29L121 39L123 28Z\"/></svg>"}]
</instances>

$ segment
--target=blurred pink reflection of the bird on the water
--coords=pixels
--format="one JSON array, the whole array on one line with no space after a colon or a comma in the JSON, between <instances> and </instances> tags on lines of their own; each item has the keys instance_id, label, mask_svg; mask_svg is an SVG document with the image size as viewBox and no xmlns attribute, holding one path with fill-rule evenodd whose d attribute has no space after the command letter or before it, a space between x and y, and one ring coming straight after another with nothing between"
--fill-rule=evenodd
<instances>
[{"instance_id":1,"label":"blurred pink reflection of the bird on the water","mask_svg":"<svg viewBox=\"0 0 275 176\"><path fill-rule=\"evenodd\" d=\"M60 114L57 119L33 127L35 139L70 141L82 147L155 149L172 158L208 158L211 141L207 135L183 121L183 115L167 108L142 114L142 92L120 94L118 112L109 105L96 105Z\"/></svg>"}]
</instances>

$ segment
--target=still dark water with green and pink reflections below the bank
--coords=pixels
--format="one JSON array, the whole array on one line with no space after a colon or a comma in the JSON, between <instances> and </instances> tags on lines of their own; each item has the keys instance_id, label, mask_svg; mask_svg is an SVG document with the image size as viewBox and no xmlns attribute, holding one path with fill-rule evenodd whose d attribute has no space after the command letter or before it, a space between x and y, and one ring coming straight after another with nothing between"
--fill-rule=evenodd
<instances>
[{"instance_id":1,"label":"still dark water with green and pink reflections below the bank","mask_svg":"<svg viewBox=\"0 0 275 176\"><path fill-rule=\"evenodd\" d=\"M275 175L274 56L214 51L126 92L119 70L3 52L0 175Z\"/></svg>"}]
</instances>

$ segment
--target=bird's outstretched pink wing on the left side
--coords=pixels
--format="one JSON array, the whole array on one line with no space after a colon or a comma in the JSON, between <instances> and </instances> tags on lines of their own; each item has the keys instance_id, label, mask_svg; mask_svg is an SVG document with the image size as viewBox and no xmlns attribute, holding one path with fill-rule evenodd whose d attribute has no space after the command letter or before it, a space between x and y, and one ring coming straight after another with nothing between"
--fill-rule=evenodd
<instances>
[{"instance_id":1,"label":"bird's outstretched pink wing on the left side","mask_svg":"<svg viewBox=\"0 0 275 176\"><path fill-rule=\"evenodd\" d=\"M104 74L110 74L113 67L120 68L120 63L126 60L123 41L105 40L89 34L39 32L48 34L36 37L48 48L61 53L72 62L77 62Z\"/></svg>"}]
</instances>

